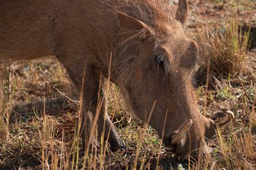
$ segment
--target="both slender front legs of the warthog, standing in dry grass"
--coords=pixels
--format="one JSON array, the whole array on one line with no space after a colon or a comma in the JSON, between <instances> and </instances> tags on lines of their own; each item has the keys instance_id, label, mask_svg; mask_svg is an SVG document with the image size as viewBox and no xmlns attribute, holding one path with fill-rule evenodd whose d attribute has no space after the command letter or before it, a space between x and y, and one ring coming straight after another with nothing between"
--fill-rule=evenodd
<instances>
[{"instance_id":1,"label":"both slender front legs of the warthog, standing in dry grass","mask_svg":"<svg viewBox=\"0 0 256 170\"><path fill-rule=\"evenodd\" d=\"M102 136L102 133L104 131L104 140L107 139L108 134L109 138L108 141L110 143L110 148L112 151L119 150L120 148L124 148L125 144L123 140L118 136L118 133L116 129L114 129L114 125L111 122L111 119L109 118L109 115L104 112L104 105L105 105L105 97L100 91L99 91L99 77L97 76L95 70L89 66L86 65L73 65L72 63L66 63L65 61L60 60L60 62L63 63L66 70L69 73L69 76L71 80L75 83L76 87L81 90L82 84L84 84L83 88L83 100L84 100L84 109L83 109L83 115L82 115L82 138L84 146L86 146L86 143L89 139L92 123L93 123L93 117L96 116L98 111L98 120L97 120L97 128L98 128L98 136L99 138ZM85 72L84 72L84 69ZM84 81L84 83L83 83ZM98 98L98 94L100 94ZM101 105L99 103L102 103ZM104 115L105 114L105 115ZM105 118L104 118L105 116ZM104 127L104 119L105 119L105 127ZM93 138L91 140L91 143L93 142Z\"/></svg>"}]
</instances>

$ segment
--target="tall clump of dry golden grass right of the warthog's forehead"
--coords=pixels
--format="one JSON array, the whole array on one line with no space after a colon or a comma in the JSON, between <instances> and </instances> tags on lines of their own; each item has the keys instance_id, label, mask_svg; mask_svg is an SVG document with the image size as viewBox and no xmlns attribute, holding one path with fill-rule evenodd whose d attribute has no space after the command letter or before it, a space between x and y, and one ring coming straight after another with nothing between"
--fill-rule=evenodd
<instances>
[{"instance_id":1,"label":"tall clump of dry golden grass right of the warthog's forehead","mask_svg":"<svg viewBox=\"0 0 256 170\"><path fill-rule=\"evenodd\" d=\"M250 29L243 30L235 16L226 18L224 23L217 22L214 26L206 23L203 29L205 36L199 40L203 68L207 69L210 62L210 71L214 76L246 73Z\"/></svg>"}]
</instances>

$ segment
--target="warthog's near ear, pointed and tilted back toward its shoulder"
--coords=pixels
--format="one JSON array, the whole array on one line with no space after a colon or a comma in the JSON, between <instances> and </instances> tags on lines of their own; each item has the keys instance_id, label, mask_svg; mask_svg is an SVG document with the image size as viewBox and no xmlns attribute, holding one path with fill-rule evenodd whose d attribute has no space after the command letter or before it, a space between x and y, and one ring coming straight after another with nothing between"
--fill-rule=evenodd
<instances>
[{"instance_id":1,"label":"warthog's near ear, pointed and tilted back toward its shoulder","mask_svg":"<svg viewBox=\"0 0 256 170\"><path fill-rule=\"evenodd\" d=\"M127 15L124 15L123 13L117 13L118 19L119 19L119 27L122 30L142 30L146 29L150 31L150 27L147 26L145 23L129 17Z\"/></svg>"}]
</instances>

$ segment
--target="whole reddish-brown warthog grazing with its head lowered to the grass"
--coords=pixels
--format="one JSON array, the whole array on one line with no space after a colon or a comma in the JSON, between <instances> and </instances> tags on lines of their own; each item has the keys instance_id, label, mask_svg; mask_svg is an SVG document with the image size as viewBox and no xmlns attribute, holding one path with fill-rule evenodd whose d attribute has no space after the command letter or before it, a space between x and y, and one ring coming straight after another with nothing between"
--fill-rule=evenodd
<instances>
[{"instance_id":1,"label":"whole reddish-brown warthog grazing with its head lowered to the grass","mask_svg":"<svg viewBox=\"0 0 256 170\"><path fill-rule=\"evenodd\" d=\"M187 13L186 0L173 17L160 0L1 1L0 58L56 56L83 93L84 143L104 98L99 77L110 75L134 114L144 122L150 118L166 147L182 157L197 155L216 124L234 116L228 112L214 122L198 110L192 87L198 45L186 37ZM98 135L105 128L106 139L110 131L111 149L118 150L125 144L102 101Z\"/></svg>"}]
</instances>

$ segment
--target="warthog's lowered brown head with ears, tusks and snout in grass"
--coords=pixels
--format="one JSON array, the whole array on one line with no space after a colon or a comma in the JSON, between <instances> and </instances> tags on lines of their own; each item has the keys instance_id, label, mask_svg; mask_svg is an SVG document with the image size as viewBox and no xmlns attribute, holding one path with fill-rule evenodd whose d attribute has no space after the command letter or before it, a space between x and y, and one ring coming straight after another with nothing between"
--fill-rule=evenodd
<instances>
[{"instance_id":1,"label":"warthog's lowered brown head with ears, tusks and snout in grass","mask_svg":"<svg viewBox=\"0 0 256 170\"><path fill-rule=\"evenodd\" d=\"M120 67L118 82L133 111L149 121L166 147L182 157L196 156L205 137L215 134L216 124L226 125L233 114L216 123L199 112L192 86L199 50L184 32L186 0L180 0L176 19L162 18L142 21L118 13L123 39L120 61L115 61Z\"/></svg>"}]
</instances>

